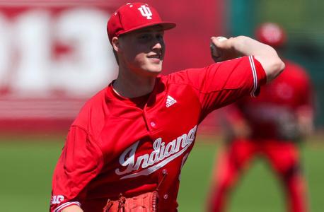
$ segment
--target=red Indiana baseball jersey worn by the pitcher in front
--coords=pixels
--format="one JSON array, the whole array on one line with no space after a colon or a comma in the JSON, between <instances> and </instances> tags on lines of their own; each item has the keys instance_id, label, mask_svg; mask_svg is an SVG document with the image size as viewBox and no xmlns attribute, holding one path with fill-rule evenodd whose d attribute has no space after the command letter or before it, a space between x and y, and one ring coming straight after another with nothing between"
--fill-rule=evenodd
<instances>
[{"instance_id":1,"label":"red Indiana baseball jersey worn by the pitcher in front","mask_svg":"<svg viewBox=\"0 0 324 212\"><path fill-rule=\"evenodd\" d=\"M253 57L158 76L144 97L123 98L112 85L82 108L54 170L50 211L79 205L102 211L119 194L158 187L159 211L176 211L180 171L209 112L255 95L265 71Z\"/></svg>"}]
</instances>

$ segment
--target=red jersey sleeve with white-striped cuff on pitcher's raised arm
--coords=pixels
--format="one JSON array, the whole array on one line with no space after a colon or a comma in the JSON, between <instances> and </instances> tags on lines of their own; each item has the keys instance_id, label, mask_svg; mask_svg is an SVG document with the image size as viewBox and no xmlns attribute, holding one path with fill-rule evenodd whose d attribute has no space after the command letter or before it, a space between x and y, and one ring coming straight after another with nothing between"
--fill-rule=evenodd
<instances>
[{"instance_id":1,"label":"red jersey sleeve with white-striped cuff on pitcher's raised arm","mask_svg":"<svg viewBox=\"0 0 324 212\"><path fill-rule=\"evenodd\" d=\"M203 69L183 71L183 81L188 81L202 105L202 115L230 104L243 97L253 97L266 83L262 65L253 56L241 57L212 64Z\"/></svg>"}]
</instances>

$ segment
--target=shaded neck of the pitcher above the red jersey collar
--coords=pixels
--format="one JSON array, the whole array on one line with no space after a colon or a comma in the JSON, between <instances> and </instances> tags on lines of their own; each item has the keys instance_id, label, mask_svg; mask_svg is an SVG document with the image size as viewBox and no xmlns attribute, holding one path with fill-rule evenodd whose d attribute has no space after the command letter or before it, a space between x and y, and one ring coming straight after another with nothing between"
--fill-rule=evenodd
<instances>
[{"instance_id":1,"label":"shaded neck of the pitcher above the red jersey collar","mask_svg":"<svg viewBox=\"0 0 324 212\"><path fill-rule=\"evenodd\" d=\"M155 86L155 76L137 76L136 74L119 73L112 84L118 95L125 98L136 98L151 93Z\"/></svg>"}]
</instances>

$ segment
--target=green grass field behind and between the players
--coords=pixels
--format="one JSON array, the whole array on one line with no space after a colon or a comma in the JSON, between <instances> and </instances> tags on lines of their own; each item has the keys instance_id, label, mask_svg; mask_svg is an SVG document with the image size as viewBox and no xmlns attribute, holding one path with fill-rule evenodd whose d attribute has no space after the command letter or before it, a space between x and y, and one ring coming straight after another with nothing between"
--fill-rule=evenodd
<instances>
[{"instance_id":1,"label":"green grass field behind and between the players","mask_svg":"<svg viewBox=\"0 0 324 212\"><path fill-rule=\"evenodd\" d=\"M0 211L48 211L52 172L63 140L64 136L50 135L1 137ZM179 211L204 211L218 146L210 139L204 140L198 136L183 168ZM311 211L323 211L324 143L305 145L302 156ZM285 211L282 187L261 160L254 163L233 190L228 211Z\"/></svg>"}]
</instances>

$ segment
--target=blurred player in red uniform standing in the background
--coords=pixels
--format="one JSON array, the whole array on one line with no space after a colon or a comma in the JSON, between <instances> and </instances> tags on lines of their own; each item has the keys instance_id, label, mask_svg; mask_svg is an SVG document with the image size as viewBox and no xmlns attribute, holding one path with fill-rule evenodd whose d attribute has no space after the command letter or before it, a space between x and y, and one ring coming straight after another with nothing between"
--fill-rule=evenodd
<instances>
[{"instance_id":1,"label":"blurred player in red uniform standing in the background","mask_svg":"<svg viewBox=\"0 0 324 212\"><path fill-rule=\"evenodd\" d=\"M256 37L277 49L286 40L275 23L262 24ZM225 211L229 191L256 156L265 157L283 182L287 211L307 211L296 142L313 129L313 93L306 71L284 63L284 73L262 88L258 98L243 98L227 108L228 143L219 153L209 211Z\"/></svg>"}]
</instances>

